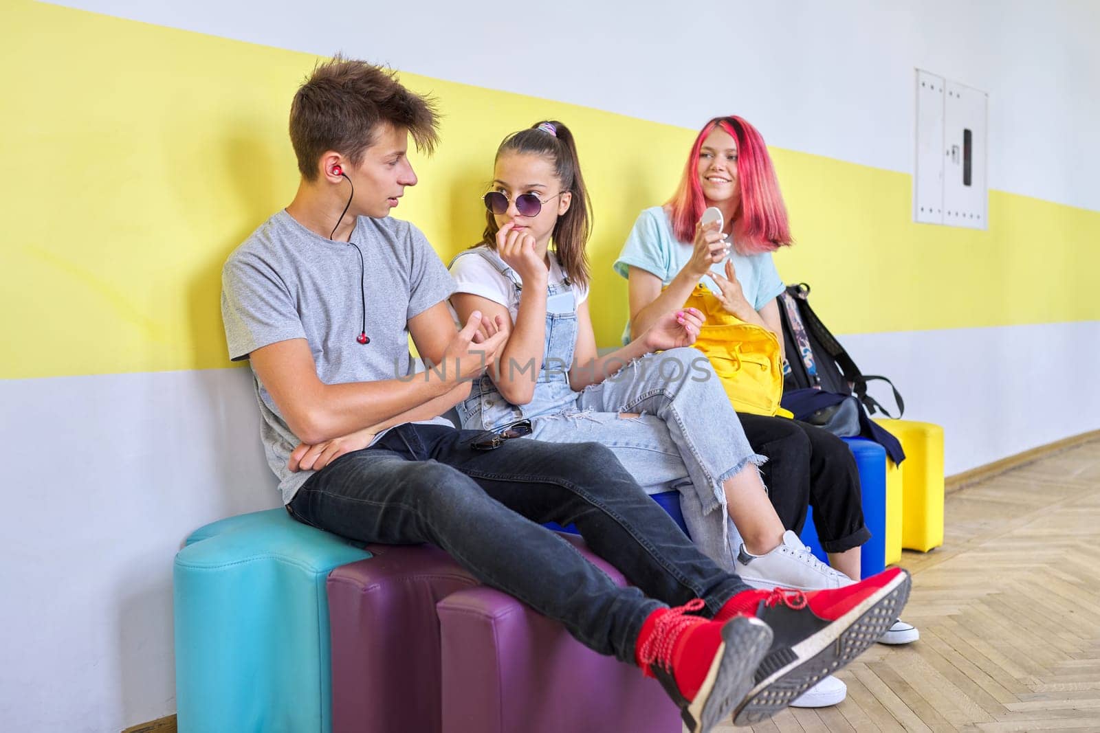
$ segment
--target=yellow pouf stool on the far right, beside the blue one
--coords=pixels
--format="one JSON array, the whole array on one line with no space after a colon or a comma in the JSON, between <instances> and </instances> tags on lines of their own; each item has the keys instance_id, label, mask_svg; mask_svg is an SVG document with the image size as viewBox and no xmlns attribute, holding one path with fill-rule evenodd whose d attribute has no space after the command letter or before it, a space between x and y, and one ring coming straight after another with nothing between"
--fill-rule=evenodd
<instances>
[{"instance_id":1,"label":"yellow pouf stool on the far right, beside the blue one","mask_svg":"<svg viewBox=\"0 0 1100 733\"><path fill-rule=\"evenodd\" d=\"M900 474L901 479L901 546L921 552L941 546L944 544L944 429L913 420L877 419L875 422L890 431L905 451L901 466L891 463L887 471L888 558L891 556L890 497L897 493L890 490L891 473Z\"/></svg>"}]
</instances>

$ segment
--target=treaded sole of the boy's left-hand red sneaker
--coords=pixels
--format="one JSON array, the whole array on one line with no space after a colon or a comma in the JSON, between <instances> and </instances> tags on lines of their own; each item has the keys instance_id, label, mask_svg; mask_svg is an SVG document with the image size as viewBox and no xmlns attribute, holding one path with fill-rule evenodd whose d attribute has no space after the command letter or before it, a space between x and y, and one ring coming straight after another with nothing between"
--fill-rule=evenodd
<instances>
[{"instance_id":1,"label":"treaded sole of the boy's left-hand red sneaker","mask_svg":"<svg viewBox=\"0 0 1100 733\"><path fill-rule=\"evenodd\" d=\"M752 687L754 674L771 648L771 629L760 619L737 617L722 628L722 646L695 699L680 717L691 733L705 733L725 721Z\"/></svg>"}]
</instances>

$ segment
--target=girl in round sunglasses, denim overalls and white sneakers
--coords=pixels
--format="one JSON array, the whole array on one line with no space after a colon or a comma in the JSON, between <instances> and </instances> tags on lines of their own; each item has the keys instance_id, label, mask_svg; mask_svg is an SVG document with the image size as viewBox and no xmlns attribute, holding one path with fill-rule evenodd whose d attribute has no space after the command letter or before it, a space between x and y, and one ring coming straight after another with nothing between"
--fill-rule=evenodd
<instances>
[{"instance_id":1,"label":"girl in round sunglasses, denim overalls and white sneakers","mask_svg":"<svg viewBox=\"0 0 1100 733\"><path fill-rule=\"evenodd\" d=\"M760 480L763 457L710 362L690 348L702 313L671 309L623 348L597 355L585 256L591 202L569 129L546 121L508 135L493 178L482 242L451 264L451 302L460 320L477 310L509 334L496 365L458 406L462 426L525 420L537 440L602 443L648 492L679 488L692 540L746 581L838 585L839 574L784 530ZM738 553L759 562L746 566ZM792 704L835 704L845 695L827 677Z\"/></svg>"}]
</instances>

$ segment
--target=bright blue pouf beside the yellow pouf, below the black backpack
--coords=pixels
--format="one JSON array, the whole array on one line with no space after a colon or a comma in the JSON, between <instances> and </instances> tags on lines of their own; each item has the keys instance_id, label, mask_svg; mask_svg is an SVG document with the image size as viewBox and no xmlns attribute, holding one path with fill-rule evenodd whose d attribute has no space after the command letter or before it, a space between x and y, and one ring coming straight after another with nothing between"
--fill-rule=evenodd
<instances>
[{"instance_id":1,"label":"bright blue pouf beside the yellow pouf, below the black backpack","mask_svg":"<svg viewBox=\"0 0 1100 733\"><path fill-rule=\"evenodd\" d=\"M843 437L859 468L859 486L864 496L864 523L871 538L860 548L860 570L865 578L886 569L887 557L887 451L865 437ZM806 512L802 527L804 542L823 563L828 562L814 527L813 509Z\"/></svg>"}]
</instances>

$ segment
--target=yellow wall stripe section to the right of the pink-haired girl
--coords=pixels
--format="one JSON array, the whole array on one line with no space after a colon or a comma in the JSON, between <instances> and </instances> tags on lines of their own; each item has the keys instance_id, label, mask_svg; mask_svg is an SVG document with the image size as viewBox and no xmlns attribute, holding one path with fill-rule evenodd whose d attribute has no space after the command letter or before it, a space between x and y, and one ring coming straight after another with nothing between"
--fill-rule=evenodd
<instances>
[{"instance_id":1,"label":"yellow wall stripe section to the right of the pink-haired girl","mask_svg":"<svg viewBox=\"0 0 1100 733\"><path fill-rule=\"evenodd\" d=\"M772 148L798 243L776 255L837 333L1094 321L1100 212L989 192L989 230L912 221L912 177Z\"/></svg>"}]
</instances>

